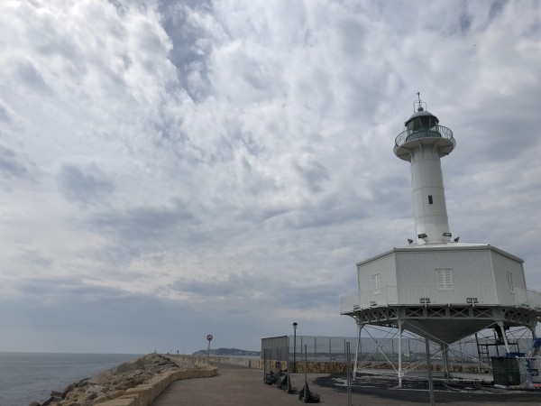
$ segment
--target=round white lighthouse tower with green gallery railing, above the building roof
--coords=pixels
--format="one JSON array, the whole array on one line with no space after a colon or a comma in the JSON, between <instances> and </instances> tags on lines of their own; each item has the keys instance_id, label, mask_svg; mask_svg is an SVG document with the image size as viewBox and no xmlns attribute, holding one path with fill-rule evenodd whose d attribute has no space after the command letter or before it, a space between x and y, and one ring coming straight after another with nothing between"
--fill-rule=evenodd
<instances>
[{"instance_id":1,"label":"round white lighthouse tower with green gallery railing, above the building roof","mask_svg":"<svg viewBox=\"0 0 541 406\"><path fill-rule=\"evenodd\" d=\"M445 205L441 158L454 150L453 132L426 111L417 93L417 111L404 123L394 153L411 163L417 244L445 244L452 236Z\"/></svg>"}]
</instances>

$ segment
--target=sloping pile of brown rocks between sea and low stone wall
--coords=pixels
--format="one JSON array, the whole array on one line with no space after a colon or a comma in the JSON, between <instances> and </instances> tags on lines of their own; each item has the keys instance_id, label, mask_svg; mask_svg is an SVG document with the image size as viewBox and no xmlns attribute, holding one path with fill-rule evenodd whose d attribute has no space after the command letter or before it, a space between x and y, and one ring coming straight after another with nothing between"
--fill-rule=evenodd
<instances>
[{"instance_id":1,"label":"sloping pile of brown rocks between sea and low stone wall","mask_svg":"<svg viewBox=\"0 0 541 406\"><path fill-rule=\"evenodd\" d=\"M157 375L179 370L179 364L167 356L156 353L144 355L90 378L81 379L78 383L71 383L62 392L50 392L47 401L41 404L33 401L30 405L94 406L115 400L128 390L149 383Z\"/></svg>"}]
</instances>

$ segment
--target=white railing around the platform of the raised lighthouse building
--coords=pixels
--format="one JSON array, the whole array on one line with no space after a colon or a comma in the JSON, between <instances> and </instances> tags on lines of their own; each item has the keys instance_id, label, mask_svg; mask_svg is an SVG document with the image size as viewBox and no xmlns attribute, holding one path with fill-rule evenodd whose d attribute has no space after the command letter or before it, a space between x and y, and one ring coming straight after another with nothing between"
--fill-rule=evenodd
<instances>
[{"instance_id":1,"label":"white railing around the platform of the raised lighthouse building","mask_svg":"<svg viewBox=\"0 0 541 406\"><path fill-rule=\"evenodd\" d=\"M341 300L341 313L390 305L418 304L479 304L490 306L520 306L541 309L541 293L529 289L497 285L454 285L453 289L438 289L437 285L383 286L374 291L356 292Z\"/></svg>"}]
</instances>

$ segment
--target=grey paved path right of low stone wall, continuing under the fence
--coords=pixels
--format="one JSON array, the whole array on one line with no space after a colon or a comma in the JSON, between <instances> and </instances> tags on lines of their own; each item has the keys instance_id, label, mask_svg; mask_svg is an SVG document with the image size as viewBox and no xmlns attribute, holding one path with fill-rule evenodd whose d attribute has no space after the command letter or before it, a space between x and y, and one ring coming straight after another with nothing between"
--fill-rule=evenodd
<instances>
[{"instance_id":1,"label":"grey paved path right of low stone wall, continuing under the fence","mask_svg":"<svg viewBox=\"0 0 541 406\"><path fill-rule=\"evenodd\" d=\"M298 394L288 394L275 385L266 385L262 381L262 372L243 366L220 364L218 375L213 378L186 379L172 383L152 406L300 406ZM319 386L314 380L326 374L308 374L308 385L312 392L321 396L324 405L346 406L347 394L333 388ZM292 374L293 386L301 389L304 374ZM384 390L366 386L362 393L352 395L354 406L367 405L404 405L430 404L427 391L419 390ZM515 406L541 404L541 393L512 393L503 391L494 393L439 392L436 391L436 404L445 406Z\"/></svg>"}]
</instances>

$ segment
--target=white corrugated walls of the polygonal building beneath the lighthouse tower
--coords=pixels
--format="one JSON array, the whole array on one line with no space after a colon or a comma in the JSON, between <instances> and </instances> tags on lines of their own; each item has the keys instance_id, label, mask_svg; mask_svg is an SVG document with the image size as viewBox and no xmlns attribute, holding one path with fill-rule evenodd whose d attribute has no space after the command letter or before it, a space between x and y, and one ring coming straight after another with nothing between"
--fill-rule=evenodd
<instances>
[{"instance_id":1,"label":"white corrugated walls of the polygonal building beneath the lighthouse tower","mask_svg":"<svg viewBox=\"0 0 541 406\"><path fill-rule=\"evenodd\" d=\"M440 272L440 276L445 273L445 286L438 286L436 270L449 270ZM508 272L512 277L508 277ZM522 263L490 245L453 249L397 248L361 263L357 273L358 304L363 309L386 304L528 302ZM380 275L377 292L373 290L373 276L376 274ZM350 298L352 303L353 300ZM350 305L353 306L352 303Z\"/></svg>"}]
</instances>

